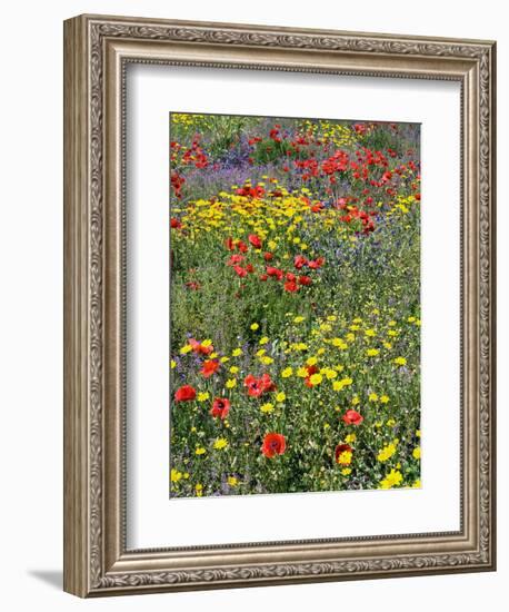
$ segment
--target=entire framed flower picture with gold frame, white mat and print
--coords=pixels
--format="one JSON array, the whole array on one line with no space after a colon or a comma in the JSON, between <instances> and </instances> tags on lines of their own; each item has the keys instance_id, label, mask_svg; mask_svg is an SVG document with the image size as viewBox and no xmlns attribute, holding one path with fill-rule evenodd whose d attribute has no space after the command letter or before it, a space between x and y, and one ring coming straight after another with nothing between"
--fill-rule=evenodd
<instances>
[{"instance_id":1,"label":"entire framed flower picture with gold frame, white mat and print","mask_svg":"<svg viewBox=\"0 0 509 612\"><path fill-rule=\"evenodd\" d=\"M490 571L495 42L64 22L64 590Z\"/></svg>"}]
</instances>

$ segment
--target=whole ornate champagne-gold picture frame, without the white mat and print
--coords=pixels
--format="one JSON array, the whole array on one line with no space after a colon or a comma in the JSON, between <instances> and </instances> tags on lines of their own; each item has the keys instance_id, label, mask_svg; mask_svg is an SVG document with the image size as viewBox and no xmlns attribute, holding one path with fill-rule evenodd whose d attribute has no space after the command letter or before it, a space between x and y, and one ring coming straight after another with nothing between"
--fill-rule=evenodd
<instances>
[{"instance_id":1,"label":"whole ornate champagne-gold picture frame, without the white mat and print","mask_svg":"<svg viewBox=\"0 0 509 612\"><path fill-rule=\"evenodd\" d=\"M461 87L461 526L126 546L126 67L453 80ZM80 16L64 22L64 590L79 596L496 566L492 41Z\"/></svg>"}]
</instances>

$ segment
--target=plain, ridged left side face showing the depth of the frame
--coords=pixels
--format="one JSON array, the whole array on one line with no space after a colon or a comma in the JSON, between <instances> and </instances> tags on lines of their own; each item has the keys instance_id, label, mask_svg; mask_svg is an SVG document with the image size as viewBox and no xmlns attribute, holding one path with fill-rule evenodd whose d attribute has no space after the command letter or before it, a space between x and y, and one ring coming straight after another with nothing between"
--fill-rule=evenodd
<instances>
[{"instance_id":1,"label":"plain, ridged left side face showing the depth of the frame","mask_svg":"<svg viewBox=\"0 0 509 612\"><path fill-rule=\"evenodd\" d=\"M63 590L89 578L88 50L86 20L63 22Z\"/></svg>"}]
</instances>

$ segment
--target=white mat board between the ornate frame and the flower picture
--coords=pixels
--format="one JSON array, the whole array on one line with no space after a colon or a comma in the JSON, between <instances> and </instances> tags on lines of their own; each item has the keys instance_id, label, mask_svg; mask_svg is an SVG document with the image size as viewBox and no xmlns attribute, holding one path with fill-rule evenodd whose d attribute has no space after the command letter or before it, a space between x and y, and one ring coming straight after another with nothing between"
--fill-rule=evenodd
<instances>
[{"instance_id":1,"label":"white mat board between the ornate frame and the flower picture","mask_svg":"<svg viewBox=\"0 0 509 612\"><path fill-rule=\"evenodd\" d=\"M137 65L127 98L128 547L459 530L459 83ZM422 124L422 488L168 501L169 108Z\"/></svg>"}]
</instances>

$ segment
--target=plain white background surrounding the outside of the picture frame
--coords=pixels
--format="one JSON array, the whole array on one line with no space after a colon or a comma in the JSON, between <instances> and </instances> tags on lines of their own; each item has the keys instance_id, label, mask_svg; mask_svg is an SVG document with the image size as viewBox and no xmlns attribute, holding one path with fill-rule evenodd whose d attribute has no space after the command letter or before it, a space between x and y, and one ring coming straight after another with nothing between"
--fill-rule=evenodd
<instances>
[{"instance_id":1,"label":"plain white background surrounding the outside of the picture frame","mask_svg":"<svg viewBox=\"0 0 509 612\"><path fill-rule=\"evenodd\" d=\"M499 227L499 571L213 591L173 595L116 598L83 602L60 590L62 524L62 43L61 21L81 12L258 22L415 34L489 38L499 42L499 108L509 103L509 48L503 3L486 0L429 0L409 4L366 0L362 7L326 0L300 4L196 0L169 3L146 0L26 2L9 4L2 18L0 224L2 297L1 384L2 436L2 606L7 610L358 610L460 611L502 610L509 578L508 445L505 409L509 362L508 240L509 216L500 188ZM4 48L3 48L4 47ZM500 112L499 168L509 165L507 113ZM500 181L502 184L502 181ZM502 187L503 185L501 185Z\"/></svg>"}]
</instances>

